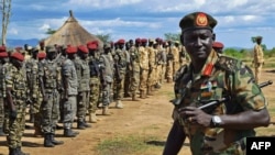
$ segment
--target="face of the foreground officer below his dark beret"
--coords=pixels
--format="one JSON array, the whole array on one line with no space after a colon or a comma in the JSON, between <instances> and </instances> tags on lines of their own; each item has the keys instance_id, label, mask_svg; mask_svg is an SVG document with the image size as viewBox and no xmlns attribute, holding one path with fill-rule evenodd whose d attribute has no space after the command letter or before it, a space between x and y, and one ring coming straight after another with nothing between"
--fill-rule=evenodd
<instances>
[{"instance_id":1,"label":"face of the foreground officer below his dark beret","mask_svg":"<svg viewBox=\"0 0 275 155\"><path fill-rule=\"evenodd\" d=\"M208 29L189 30L182 34L182 43L195 62L206 60L211 53L213 38L213 33Z\"/></svg>"}]
</instances>

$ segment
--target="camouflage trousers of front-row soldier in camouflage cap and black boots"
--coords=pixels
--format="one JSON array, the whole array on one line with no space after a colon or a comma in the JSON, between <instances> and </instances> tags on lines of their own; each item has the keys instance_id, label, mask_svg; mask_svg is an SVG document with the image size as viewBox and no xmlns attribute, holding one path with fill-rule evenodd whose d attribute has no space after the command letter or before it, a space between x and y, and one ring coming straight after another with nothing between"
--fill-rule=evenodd
<instances>
[{"instance_id":1,"label":"camouflage trousers of front-row soldier in camouflage cap and black boots","mask_svg":"<svg viewBox=\"0 0 275 155\"><path fill-rule=\"evenodd\" d=\"M46 92L47 101L41 106L42 130L44 133L55 133L56 123L59 115L59 98L56 90Z\"/></svg>"}]
</instances>

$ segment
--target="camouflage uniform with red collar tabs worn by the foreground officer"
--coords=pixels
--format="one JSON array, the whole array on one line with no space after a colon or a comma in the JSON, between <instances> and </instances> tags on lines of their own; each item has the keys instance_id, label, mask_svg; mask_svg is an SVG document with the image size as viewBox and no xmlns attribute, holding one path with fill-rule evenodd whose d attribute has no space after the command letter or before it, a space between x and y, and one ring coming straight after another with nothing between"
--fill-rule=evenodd
<instances>
[{"instance_id":1,"label":"camouflage uniform with red collar tabs worn by the foreground officer","mask_svg":"<svg viewBox=\"0 0 275 155\"><path fill-rule=\"evenodd\" d=\"M183 98L183 101L175 107L174 119L179 120L190 139L194 155L243 154L245 147L240 150L240 144L246 136L255 136L255 131L193 125L177 114L177 109L187 106L199 107L204 104L201 101L219 100L228 96L232 100L220 104L210 114L234 114L251 109L263 109L267 101L253 80L252 70L243 62L217 55L215 51L209 55L200 74L194 75L190 66L179 69L174 88L176 98Z\"/></svg>"}]
</instances>

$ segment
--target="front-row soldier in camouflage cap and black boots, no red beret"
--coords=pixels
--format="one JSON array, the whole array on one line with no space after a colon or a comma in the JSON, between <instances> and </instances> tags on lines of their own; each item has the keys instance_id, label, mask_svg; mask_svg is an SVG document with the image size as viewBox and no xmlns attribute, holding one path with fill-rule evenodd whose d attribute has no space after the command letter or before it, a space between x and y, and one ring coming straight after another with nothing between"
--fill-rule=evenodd
<instances>
[{"instance_id":1,"label":"front-row soldier in camouflage cap and black boots, no red beret","mask_svg":"<svg viewBox=\"0 0 275 155\"><path fill-rule=\"evenodd\" d=\"M47 58L38 64L38 81L43 101L41 104L42 129L44 146L54 147L63 144L55 140L56 123L58 122L58 89L61 88L61 70L55 62L57 51L54 46L46 46Z\"/></svg>"}]
</instances>

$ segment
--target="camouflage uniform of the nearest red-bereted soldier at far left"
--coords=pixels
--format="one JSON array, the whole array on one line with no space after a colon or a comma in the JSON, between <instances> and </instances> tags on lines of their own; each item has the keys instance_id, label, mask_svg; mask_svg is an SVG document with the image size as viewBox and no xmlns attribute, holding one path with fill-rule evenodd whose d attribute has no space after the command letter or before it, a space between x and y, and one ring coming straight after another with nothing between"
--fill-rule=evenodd
<instances>
[{"instance_id":1,"label":"camouflage uniform of the nearest red-bereted soldier at far left","mask_svg":"<svg viewBox=\"0 0 275 155\"><path fill-rule=\"evenodd\" d=\"M25 128L26 77L23 69L11 66L6 74L6 86L12 89L12 100L16 109L16 118L9 118L8 146L16 148L22 146L22 135Z\"/></svg>"}]
</instances>

